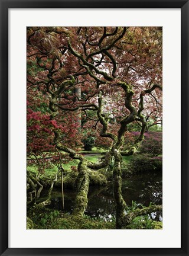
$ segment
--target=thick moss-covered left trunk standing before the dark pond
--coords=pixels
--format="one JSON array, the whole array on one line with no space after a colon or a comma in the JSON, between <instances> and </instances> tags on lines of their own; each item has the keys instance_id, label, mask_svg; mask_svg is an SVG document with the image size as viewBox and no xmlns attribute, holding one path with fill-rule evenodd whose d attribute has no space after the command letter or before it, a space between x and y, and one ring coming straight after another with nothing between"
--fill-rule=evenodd
<instances>
[{"instance_id":1,"label":"thick moss-covered left trunk standing before the dark pond","mask_svg":"<svg viewBox=\"0 0 189 256\"><path fill-rule=\"evenodd\" d=\"M87 195L89 192L89 172L87 171L86 162L83 161L78 166L79 174L76 180L76 188L78 190L75 205L73 210L73 215L83 216L84 211L86 210L88 199Z\"/></svg>"}]
</instances>

